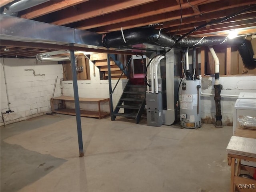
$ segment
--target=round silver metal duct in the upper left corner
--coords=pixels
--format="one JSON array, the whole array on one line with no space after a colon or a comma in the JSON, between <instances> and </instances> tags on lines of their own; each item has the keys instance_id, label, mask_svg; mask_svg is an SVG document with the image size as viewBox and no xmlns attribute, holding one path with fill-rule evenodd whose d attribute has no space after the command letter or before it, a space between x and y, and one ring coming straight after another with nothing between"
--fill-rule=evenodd
<instances>
[{"instance_id":1,"label":"round silver metal duct in the upper left corner","mask_svg":"<svg viewBox=\"0 0 256 192\"><path fill-rule=\"evenodd\" d=\"M34 7L36 5L40 5L47 1L48 0L20 0L18 2L6 5L2 14L14 16L22 10Z\"/></svg>"}]
</instances>

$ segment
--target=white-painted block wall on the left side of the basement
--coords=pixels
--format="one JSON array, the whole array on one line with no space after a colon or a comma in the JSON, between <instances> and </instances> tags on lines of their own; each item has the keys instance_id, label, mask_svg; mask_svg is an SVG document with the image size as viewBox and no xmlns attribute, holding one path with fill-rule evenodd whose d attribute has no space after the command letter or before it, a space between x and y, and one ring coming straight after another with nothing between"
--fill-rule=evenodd
<instances>
[{"instance_id":1,"label":"white-painted block wall on the left side of the basement","mask_svg":"<svg viewBox=\"0 0 256 192\"><path fill-rule=\"evenodd\" d=\"M40 116L48 112L50 98L58 76L54 96L61 95L62 65L57 62L36 62L35 59L1 58L1 111L8 110L4 70L10 110L4 114L6 124ZM3 124L1 119L1 125Z\"/></svg>"}]
</instances>

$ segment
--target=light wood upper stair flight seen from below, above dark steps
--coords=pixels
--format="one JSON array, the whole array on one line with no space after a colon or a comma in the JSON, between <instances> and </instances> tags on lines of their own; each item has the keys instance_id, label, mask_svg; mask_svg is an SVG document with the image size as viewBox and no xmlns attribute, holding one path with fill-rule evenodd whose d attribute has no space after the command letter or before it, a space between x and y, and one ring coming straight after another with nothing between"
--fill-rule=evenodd
<instances>
[{"instance_id":1,"label":"light wood upper stair flight seen from below, above dark steps","mask_svg":"<svg viewBox=\"0 0 256 192\"><path fill-rule=\"evenodd\" d=\"M110 54L110 71L111 71L111 78L118 79L122 74L122 70L124 68L122 62L120 62L116 55ZM94 62L95 66L100 69L102 73L102 79L108 79L108 62L107 62L107 54L105 53L98 53L98 54L91 54L90 60ZM121 79L127 79L128 71L124 71Z\"/></svg>"}]
</instances>

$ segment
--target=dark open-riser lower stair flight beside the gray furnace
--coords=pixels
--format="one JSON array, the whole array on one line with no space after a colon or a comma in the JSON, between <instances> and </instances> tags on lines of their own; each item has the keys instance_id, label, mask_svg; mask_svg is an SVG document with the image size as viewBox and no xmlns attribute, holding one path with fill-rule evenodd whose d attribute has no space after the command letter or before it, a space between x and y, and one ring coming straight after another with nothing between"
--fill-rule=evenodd
<instances>
[{"instance_id":1,"label":"dark open-riser lower stair flight beside the gray furnace","mask_svg":"<svg viewBox=\"0 0 256 192\"><path fill-rule=\"evenodd\" d=\"M133 118L136 120L136 124L138 124L142 113L145 111L145 104L146 98L144 85L131 84L131 80L129 80L118 104L116 105L113 117L114 119L116 116ZM119 112L121 108L124 109L123 113Z\"/></svg>"}]
</instances>

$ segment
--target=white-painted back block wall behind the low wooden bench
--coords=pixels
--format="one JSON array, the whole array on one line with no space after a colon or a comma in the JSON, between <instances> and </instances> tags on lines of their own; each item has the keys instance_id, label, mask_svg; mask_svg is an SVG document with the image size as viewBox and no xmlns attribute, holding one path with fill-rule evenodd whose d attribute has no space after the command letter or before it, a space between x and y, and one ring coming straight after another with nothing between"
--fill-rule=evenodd
<instances>
[{"instance_id":1,"label":"white-painted back block wall behind the low wooden bench","mask_svg":"<svg viewBox=\"0 0 256 192\"><path fill-rule=\"evenodd\" d=\"M84 98L109 98L108 80L100 80L100 70L90 61L90 80L78 80L78 95ZM112 80L112 89L117 80ZM113 94L113 107L116 106L128 79L121 79ZM72 81L62 81L62 90L64 96L74 96ZM67 108L75 108L74 102L66 102ZM101 103L101 110L109 112L108 102ZM80 102L80 109L97 111L98 104L95 102Z\"/></svg>"}]
</instances>

